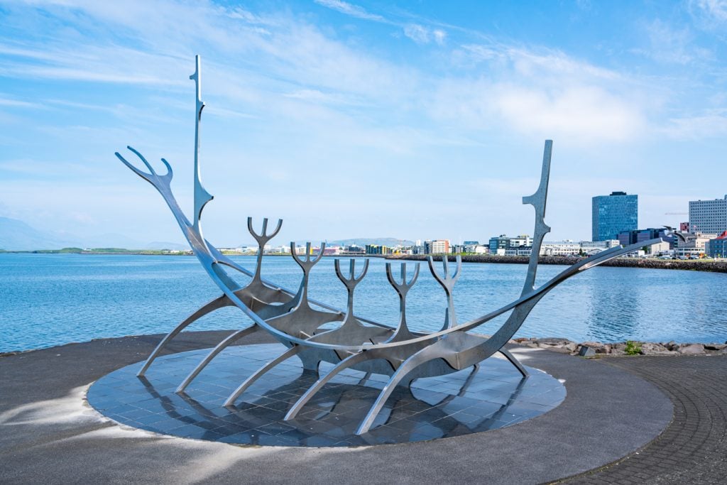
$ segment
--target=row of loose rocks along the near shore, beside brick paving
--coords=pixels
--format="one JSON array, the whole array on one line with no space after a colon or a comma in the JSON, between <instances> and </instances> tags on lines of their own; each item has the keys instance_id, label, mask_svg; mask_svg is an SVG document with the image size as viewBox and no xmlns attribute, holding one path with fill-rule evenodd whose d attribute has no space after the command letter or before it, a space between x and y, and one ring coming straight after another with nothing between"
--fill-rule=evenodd
<instances>
[{"instance_id":1,"label":"row of loose rocks along the near shore, beside brick paving","mask_svg":"<svg viewBox=\"0 0 727 485\"><path fill-rule=\"evenodd\" d=\"M544 348L573 356L679 356L727 354L725 343L677 343L677 342L573 342L564 338L516 338L511 342L531 348Z\"/></svg>"}]
</instances>

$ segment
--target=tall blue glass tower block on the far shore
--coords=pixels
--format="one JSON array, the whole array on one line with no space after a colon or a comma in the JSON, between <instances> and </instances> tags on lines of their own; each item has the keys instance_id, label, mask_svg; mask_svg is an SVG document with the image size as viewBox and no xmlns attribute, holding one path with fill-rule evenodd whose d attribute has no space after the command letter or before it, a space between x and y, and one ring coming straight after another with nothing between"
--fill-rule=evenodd
<instances>
[{"instance_id":1,"label":"tall blue glass tower block on the far shore","mask_svg":"<svg viewBox=\"0 0 727 485\"><path fill-rule=\"evenodd\" d=\"M595 196L591 209L593 241L618 239L620 232L635 231L638 227L638 196L636 194L611 192L609 196Z\"/></svg>"}]
</instances>

